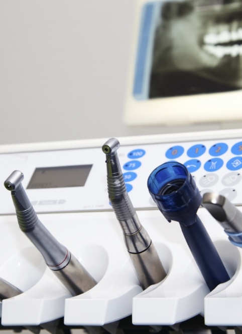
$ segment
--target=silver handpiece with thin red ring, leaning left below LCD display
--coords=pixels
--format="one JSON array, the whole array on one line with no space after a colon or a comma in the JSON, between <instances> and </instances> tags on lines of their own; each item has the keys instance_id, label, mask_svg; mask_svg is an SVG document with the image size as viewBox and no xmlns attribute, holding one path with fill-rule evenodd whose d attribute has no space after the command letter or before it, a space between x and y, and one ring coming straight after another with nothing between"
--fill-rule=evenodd
<instances>
[{"instance_id":1,"label":"silver handpiece with thin red ring, leaning left below LCD display","mask_svg":"<svg viewBox=\"0 0 242 334\"><path fill-rule=\"evenodd\" d=\"M6 189L11 191L20 229L73 296L91 289L96 281L39 220L21 183L23 179L22 172L14 171L4 183Z\"/></svg>"}]
</instances>

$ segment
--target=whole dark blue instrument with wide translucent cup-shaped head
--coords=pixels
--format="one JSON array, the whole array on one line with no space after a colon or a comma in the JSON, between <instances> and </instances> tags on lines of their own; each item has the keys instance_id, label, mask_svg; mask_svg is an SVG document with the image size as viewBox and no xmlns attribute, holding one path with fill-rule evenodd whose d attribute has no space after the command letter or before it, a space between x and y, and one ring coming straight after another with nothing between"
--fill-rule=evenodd
<instances>
[{"instance_id":1,"label":"whole dark blue instrument with wide translucent cup-shaped head","mask_svg":"<svg viewBox=\"0 0 242 334\"><path fill-rule=\"evenodd\" d=\"M228 273L205 227L197 216L202 197L187 168L178 162L166 162L148 178L150 194L171 222L178 221L192 255L208 288L229 280Z\"/></svg>"}]
</instances>

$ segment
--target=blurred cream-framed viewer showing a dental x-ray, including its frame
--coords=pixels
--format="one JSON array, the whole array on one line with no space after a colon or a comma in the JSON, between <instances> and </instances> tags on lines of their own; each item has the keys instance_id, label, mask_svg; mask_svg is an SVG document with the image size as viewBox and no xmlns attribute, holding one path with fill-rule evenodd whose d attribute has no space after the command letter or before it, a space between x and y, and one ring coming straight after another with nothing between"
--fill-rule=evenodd
<instances>
[{"instance_id":1,"label":"blurred cream-framed viewer showing a dental x-ray, including its frame","mask_svg":"<svg viewBox=\"0 0 242 334\"><path fill-rule=\"evenodd\" d=\"M242 120L242 0L136 0L125 122Z\"/></svg>"}]
</instances>

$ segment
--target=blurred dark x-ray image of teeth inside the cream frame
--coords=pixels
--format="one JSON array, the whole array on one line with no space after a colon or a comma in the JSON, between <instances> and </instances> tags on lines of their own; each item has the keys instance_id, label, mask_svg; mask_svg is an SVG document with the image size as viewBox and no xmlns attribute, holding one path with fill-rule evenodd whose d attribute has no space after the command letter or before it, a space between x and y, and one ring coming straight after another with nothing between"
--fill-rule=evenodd
<instances>
[{"instance_id":1,"label":"blurred dark x-ray image of teeth inside the cream frame","mask_svg":"<svg viewBox=\"0 0 242 334\"><path fill-rule=\"evenodd\" d=\"M146 3L141 22L140 45L149 33L143 99L242 88L241 0Z\"/></svg>"}]
</instances>

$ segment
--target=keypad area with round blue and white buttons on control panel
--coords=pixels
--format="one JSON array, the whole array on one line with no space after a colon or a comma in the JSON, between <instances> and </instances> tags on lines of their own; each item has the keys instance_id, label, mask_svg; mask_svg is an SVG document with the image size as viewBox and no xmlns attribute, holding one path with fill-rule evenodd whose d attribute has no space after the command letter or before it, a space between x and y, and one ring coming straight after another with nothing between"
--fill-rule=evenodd
<instances>
[{"instance_id":1,"label":"keypad area with round blue and white buttons on control panel","mask_svg":"<svg viewBox=\"0 0 242 334\"><path fill-rule=\"evenodd\" d=\"M147 182L144 173L148 178L162 163L178 161L192 174L201 194L214 191L234 203L242 203L241 140L145 144L131 149L126 157L123 169L128 191L133 192L138 182Z\"/></svg>"}]
</instances>

